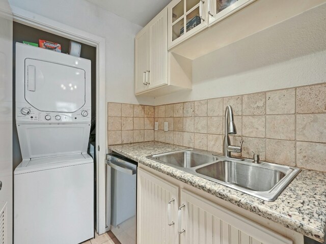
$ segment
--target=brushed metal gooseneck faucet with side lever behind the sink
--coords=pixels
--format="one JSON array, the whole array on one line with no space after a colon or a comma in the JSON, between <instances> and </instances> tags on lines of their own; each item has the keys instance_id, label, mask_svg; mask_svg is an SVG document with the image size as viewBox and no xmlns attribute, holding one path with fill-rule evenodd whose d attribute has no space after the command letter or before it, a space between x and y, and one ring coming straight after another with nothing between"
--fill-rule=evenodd
<instances>
[{"instance_id":1,"label":"brushed metal gooseneck faucet with side lever behind the sink","mask_svg":"<svg viewBox=\"0 0 326 244\"><path fill-rule=\"evenodd\" d=\"M233 121L233 110L230 105L226 106L224 119L225 131L223 140L223 155L231 158L231 153L241 153L243 140L241 140L240 146L230 145L229 135L236 134L236 128Z\"/></svg>"}]
</instances>

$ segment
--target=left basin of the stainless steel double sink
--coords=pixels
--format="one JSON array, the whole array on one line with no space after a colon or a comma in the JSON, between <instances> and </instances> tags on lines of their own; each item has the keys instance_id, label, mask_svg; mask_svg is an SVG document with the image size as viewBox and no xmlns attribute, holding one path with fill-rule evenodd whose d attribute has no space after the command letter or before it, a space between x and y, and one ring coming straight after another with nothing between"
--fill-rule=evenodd
<instances>
[{"instance_id":1,"label":"left basin of the stainless steel double sink","mask_svg":"<svg viewBox=\"0 0 326 244\"><path fill-rule=\"evenodd\" d=\"M191 168L218 160L212 154L206 155L203 151L196 149L172 151L171 153L151 155L147 158L178 168Z\"/></svg>"}]
</instances>

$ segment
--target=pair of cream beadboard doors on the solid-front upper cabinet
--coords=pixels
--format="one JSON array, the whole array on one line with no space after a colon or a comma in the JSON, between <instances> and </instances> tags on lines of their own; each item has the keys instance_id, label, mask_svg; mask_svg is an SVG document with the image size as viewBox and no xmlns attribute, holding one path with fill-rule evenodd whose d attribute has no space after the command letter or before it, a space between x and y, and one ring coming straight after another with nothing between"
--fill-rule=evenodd
<instances>
[{"instance_id":1,"label":"pair of cream beadboard doors on the solid-front upper cabinet","mask_svg":"<svg viewBox=\"0 0 326 244\"><path fill-rule=\"evenodd\" d=\"M167 9L135 37L135 94L168 83Z\"/></svg>"}]
</instances>

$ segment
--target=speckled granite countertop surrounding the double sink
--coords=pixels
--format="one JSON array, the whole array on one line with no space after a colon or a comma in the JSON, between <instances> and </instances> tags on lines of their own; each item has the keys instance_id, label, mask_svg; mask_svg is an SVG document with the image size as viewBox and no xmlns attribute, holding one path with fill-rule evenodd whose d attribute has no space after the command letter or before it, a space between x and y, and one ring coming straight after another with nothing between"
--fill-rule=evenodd
<instances>
[{"instance_id":1,"label":"speckled granite countertop surrounding the double sink","mask_svg":"<svg viewBox=\"0 0 326 244\"><path fill-rule=\"evenodd\" d=\"M317 241L324 241L326 173L303 169L276 201L268 202L146 158L148 155L186 147L151 141L112 145L108 148L291 230Z\"/></svg>"}]
</instances>

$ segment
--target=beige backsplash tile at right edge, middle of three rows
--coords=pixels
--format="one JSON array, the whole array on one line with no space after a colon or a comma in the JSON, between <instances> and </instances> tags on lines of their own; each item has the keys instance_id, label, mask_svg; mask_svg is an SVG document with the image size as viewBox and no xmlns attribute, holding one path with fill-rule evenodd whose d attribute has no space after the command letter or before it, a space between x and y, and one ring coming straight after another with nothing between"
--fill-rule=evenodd
<instances>
[{"instance_id":1,"label":"beige backsplash tile at right edge, middle of three rows","mask_svg":"<svg viewBox=\"0 0 326 244\"><path fill-rule=\"evenodd\" d=\"M296 140L326 142L326 114L297 114Z\"/></svg>"}]
</instances>

